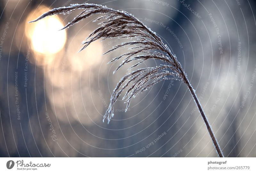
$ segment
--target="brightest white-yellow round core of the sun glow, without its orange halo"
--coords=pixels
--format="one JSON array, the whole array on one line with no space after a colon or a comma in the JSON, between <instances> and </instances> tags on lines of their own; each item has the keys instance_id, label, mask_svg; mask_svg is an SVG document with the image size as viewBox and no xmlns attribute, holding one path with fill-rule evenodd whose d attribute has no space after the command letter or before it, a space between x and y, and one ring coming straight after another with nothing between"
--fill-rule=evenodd
<instances>
[{"instance_id":1,"label":"brightest white-yellow round core of the sun glow, without its orange halo","mask_svg":"<svg viewBox=\"0 0 256 173\"><path fill-rule=\"evenodd\" d=\"M66 43L66 31L60 30L62 23L54 16L36 22L32 31L32 48L42 54L55 54Z\"/></svg>"}]
</instances>

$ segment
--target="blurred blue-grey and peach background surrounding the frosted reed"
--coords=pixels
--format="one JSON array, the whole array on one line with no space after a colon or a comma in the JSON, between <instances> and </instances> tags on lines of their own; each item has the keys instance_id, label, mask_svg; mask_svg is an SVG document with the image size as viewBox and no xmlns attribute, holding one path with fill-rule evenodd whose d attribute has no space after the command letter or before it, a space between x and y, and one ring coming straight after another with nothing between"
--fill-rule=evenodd
<instances>
[{"instance_id":1,"label":"blurred blue-grey and peach background surrounding the frosted reed","mask_svg":"<svg viewBox=\"0 0 256 173\"><path fill-rule=\"evenodd\" d=\"M98 16L61 30L80 11L28 21L56 7L95 3L132 13L178 57L228 157L256 156L255 2L242 0L1 0L0 156L217 157L187 86L165 81L123 101L103 123L116 83L108 64L122 40L81 42ZM153 61L140 67L154 66Z\"/></svg>"}]
</instances>

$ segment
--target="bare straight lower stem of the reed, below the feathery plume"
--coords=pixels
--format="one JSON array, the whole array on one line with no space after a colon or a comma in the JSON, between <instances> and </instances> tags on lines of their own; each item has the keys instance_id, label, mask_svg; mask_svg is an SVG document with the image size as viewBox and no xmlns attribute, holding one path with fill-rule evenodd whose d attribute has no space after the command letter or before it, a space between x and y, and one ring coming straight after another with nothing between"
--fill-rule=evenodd
<instances>
[{"instance_id":1,"label":"bare straight lower stem of the reed, below the feathery plume","mask_svg":"<svg viewBox=\"0 0 256 173\"><path fill-rule=\"evenodd\" d=\"M192 94L192 96L193 96L193 98L194 98L194 100L196 102L196 105L197 105L197 107L199 109L199 112L201 113L202 118L204 119L204 123L205 123L205 125L207 127L207 130L208 130L208 132L209 132L209 134L210 134L210 136L212 138L212 142L214 144L214 147L216 148L216 151L217 151L219 157L224 157L224 155L223 155L223 153L222 153L222 151L220 149L220 145L219 145L219 143L218 143L218 141L217 141L217 139L216 139L216 137L215 137L215 135L214 135L214 133L212 131L212 127L211 127L209 121L207 120L207 118L206 118L206 116L204 114L204 110L202 108L202 105L200 104L200 102L199 102L199 100L198 100L198 98L196 96L196 93L195 93L193 87L191 86L191 84L188 81L188 78L185 75L184 75L184 80L186 81L185 83L188 85L190 93Z\"/></svg>"}]
</instances>

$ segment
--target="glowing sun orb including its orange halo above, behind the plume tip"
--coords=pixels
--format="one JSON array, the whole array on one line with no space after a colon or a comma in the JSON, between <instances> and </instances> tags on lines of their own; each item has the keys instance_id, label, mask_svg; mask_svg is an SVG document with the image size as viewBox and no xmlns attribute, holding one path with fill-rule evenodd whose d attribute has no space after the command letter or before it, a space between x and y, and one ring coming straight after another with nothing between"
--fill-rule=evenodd
<instances>
[{"instance_id":1,"label":"glowing sun orb including its orange halo above, behind the plume tip","mask_svg":"<svg viewBox=\"0 0 256 173\"><path fill-rule=\"evenodd\" d=\"M39 6L30 12L27 21L39 17L50 9L46 6ZM46 17L35 23L26 25L26 36L31 41L31 48L41 54L56 54L65 45L67 40L66 30L61 30L64 25L58 16Z\"/></svg>"}]
</instances>

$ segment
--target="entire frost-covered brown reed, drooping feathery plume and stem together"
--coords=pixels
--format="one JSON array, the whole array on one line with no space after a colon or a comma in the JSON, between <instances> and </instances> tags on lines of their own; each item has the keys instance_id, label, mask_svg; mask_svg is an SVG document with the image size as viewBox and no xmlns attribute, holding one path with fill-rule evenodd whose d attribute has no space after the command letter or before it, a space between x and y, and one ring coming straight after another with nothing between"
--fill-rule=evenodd
<instances>
[{"instance_id":1,"label":"entire frost-covered brown reed, drooping feathery plume and stem together","mask_svg":"<svg viewBox=\"0 0 256 173\"><path fill-rule=\"evenodd\" d=\"M136 61L136 63L129 69L140 65L148 59L155 59L163 62L163 65L152 68L140 68L124 76L119 83L117 83L116 88L113 91L108 110L103 118L103 122L104 119L107 118L109 123L110 119L114 116L114 104L117 98L122 92L125 92L125 90L126 92L124 93L123 99L125 100L125 103L127 103L127 110L132 98L138 96L141 92L147 90L154 84L163 80L179 80L187 84L199 112L204 119L216 151L220 157L223 157L212 128L204 114L199 100L197 99L195 90L189 83L187 75L182 69L180 62L177 61L176 56L171 53L170 49L166 44L163 43L160 37L158 37L155 32L151 31L150 28L140 22L132 14L129 14L126 11L113 10L98 4L73 4L68 7L52 9L31 22L36 22L37 20L45 18L46 16L69 14L78 9L82 10L82 12L62 29L68 28L69 26L72 26L93 14L101 14L100 17L94 20L94 22L99 21L100 27L94 30L88 36L88 38L82 42L83 47L81 50L85 49L95 40L105 40L107 38L129 39L129 41L116 45L105 53L108 54L109 52L115 51L120 47L128 45L130 46L128 53L115 57L109 62L111 63L121 59L123 60L114 73L119 68L132 61ZM100 22L100 20L102 21Z\"/></svg>"}]
</instances>

